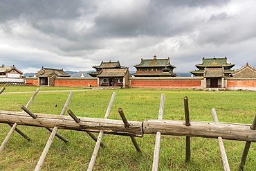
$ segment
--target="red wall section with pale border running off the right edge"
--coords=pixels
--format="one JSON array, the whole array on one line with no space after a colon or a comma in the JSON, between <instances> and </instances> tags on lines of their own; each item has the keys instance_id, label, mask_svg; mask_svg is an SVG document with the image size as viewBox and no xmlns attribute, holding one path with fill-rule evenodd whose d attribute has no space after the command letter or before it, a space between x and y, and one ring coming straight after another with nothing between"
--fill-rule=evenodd
<instances>
[{"instance_id":1,"label":"red wall section with pale border running off the right edge","mask_svg":"<svg viewBox=\"0 0 256 171\"><path fill-rule=\"evenodd\" d=\"M226 89L256 91L256 78L227 78Z\"/></svg>"}]
</instances>

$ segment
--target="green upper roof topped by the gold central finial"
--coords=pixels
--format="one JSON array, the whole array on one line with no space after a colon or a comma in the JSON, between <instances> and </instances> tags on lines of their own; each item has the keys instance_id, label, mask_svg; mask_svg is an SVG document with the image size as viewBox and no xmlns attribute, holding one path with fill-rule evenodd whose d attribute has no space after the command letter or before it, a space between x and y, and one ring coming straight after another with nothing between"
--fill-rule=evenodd
<instances>
[{"instance_id":1,"label":"green upper roof topped by the gold central finial","mask_svg":"<svg viewBox=\"0 0 256 171\"><path fill-rule=\"evenodd\" d=\"M157 67L157 66L172 66L173 68L176 68L176 66L173 66L170 64L170 58L167 59L157 59L156 55L154 55L153 59L145 59L141 58L140 64L134 65L134 67Z\"/></svg>"}]
</instances>

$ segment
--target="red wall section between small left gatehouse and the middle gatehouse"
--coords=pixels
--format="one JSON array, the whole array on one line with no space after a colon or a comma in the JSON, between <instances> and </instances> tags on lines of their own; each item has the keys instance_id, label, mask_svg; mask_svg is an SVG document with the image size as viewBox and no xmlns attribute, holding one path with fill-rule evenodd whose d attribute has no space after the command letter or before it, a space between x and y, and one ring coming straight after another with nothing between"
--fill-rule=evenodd
<instances>
[{"instance_id":1,"label":"red wall section between small left gatehouse and the middle gatehouse","mask_svg":"<svg viewBox=\"0 0 256 171\"><path fill-rule=\"evenodd\" d=\"M90 84L93 87L98 86L98 80L55 80L55 86L73 86L73 87L79 87L79 86L86 86L88 87L88 84Z\"/></svg>"}]
</instances>

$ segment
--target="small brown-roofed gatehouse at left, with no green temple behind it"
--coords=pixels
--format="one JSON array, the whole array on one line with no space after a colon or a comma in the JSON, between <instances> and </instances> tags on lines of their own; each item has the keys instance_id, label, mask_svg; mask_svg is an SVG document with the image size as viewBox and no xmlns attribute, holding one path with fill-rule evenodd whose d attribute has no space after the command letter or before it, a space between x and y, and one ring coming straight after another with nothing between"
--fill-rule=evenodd
<instances>
[{"instance_id":1,"label":"small brown-roofed gatehouse at left, with no green temple behind it","mask_svg":"<svg viewBox=\"0 0 256 171\"><path fill-rule=\"evenodd\" d=\"M54 86L55 85L55 78L57 77L70 77L68 73L63 71L63 69L48 69L42 66L35 76L38 78L39 85L43 86Z\"/></svg>"}]
</instances>

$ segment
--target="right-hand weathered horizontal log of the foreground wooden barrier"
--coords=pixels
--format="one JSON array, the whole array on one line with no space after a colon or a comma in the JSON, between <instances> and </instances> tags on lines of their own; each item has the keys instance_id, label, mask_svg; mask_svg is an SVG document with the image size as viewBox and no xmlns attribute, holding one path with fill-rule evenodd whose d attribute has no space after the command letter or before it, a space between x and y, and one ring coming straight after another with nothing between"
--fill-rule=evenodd
<instances>
[{"instance_id":1,"label":"right-hand weathered horizontal log of the foreground wooden barrier","mask_svg":"<svg viewBox=\"0 0 256 171\"><path fill-rule=\"evenodd\" d=\"M184 125L183 120L149 120L143 122L144 134L156 134L174 136L197 136L204 138L223 139L256 142L256 131L250 129L248 124L239 123L214 123L203 121L190 121L190 126Z\"/></svg>"}]
</instances>

